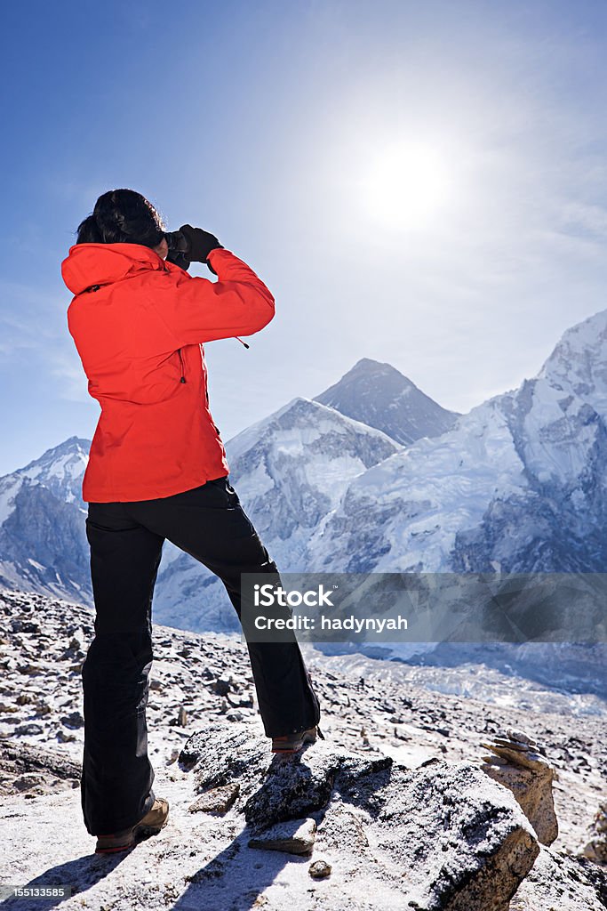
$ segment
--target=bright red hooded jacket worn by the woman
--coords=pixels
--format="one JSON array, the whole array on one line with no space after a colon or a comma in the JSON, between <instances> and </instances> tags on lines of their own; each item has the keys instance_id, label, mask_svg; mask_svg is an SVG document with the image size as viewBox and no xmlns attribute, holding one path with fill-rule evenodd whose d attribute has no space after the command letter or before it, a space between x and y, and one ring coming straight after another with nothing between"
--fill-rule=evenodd
<instances>
[{"instance_id":1,"label":"bright red hooded jacket worn by the woman","mask_svg":"<svg viewBox=\"0 0 607 911\"><path fill-rule=\"evenodd\" d=\"M86 502L170 496L228 475L208 408L204 342L251 335L274 298L228 250L218 275L189 275L149 247L82 243L61 264L88 392L101 405L83 478Z\"/></svg>"}]
</instances>

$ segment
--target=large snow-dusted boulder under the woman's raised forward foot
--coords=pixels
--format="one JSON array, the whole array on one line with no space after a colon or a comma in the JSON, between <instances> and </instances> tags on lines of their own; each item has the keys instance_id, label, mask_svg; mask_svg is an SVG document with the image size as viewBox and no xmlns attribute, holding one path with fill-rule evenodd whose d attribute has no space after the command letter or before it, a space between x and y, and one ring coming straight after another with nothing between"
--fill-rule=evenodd
<instances>
[{"instance_id":1,"label":"large snow-dusted boulder under the woman's raised forward foot","mask_svg":"<svg viewBox=\"0 0 607 911\"><path fill-rule=\"evenodd\" d=\"M276 849L280 824L312 820L314 850L341 858L332 881L379 876L403 908L507 911L540 850L512 794L471 763L432 760L410 770L329 742L278 757L247 724L217 723L187 741L179 764L198 793L238 783L235 808L256 847L266 833Z\"/></svg>"}]
</instances>

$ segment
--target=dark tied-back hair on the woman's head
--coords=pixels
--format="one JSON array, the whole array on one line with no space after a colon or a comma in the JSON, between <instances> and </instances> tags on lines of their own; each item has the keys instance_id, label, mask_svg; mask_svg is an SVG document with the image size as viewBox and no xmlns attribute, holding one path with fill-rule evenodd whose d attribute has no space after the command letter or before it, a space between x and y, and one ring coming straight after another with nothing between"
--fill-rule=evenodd
<instances>
[{"instance_id":1,"label":"dark tied-back hair on the woman's head","mask_svg":"<svg viewBox=\"0 0 607 911\"><path fill-rule=\"evenodd\" d=\"M110 189L78 225L76 243L140 243L157 247L165 225L157 209L134 189Z\"/></svg>"}]
</instances>

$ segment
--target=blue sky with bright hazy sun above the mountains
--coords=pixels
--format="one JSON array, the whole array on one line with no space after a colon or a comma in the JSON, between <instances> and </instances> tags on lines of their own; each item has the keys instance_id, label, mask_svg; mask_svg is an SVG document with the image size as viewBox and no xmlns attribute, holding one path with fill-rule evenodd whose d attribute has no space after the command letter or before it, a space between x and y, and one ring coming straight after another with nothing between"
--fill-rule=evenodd
<instances>
[{"instance_id":1,"label":"blue sky with bright hazy sun above the mountains","mask_svg":"<svg viewBox=\"0 0 607 911\"><path fill-rule=\"evenodd\" d=\"M276 296L248 351L206 345L225 439L360 357L467 411L607 307L607 5L171 10L3 7L0 474L95 429L59 270L106 189Z\"/></svg>"}]
</instances>

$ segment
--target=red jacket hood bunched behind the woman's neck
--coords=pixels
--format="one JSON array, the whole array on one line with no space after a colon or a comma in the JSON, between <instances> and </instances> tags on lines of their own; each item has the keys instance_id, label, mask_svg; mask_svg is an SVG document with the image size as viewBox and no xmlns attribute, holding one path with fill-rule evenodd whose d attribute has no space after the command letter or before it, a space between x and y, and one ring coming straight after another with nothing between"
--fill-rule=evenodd
<instances>
[{"instance_id":1,"label":"red jacket hood bunched behind the woman's neck","mask_svg":"<svg viewBox=\"0 0 607 911\"><path fill-rule=\"evenodd\" d=\"M170 271L161 256L139 243L77 243L61 263L61 275L73 294L150 269Z\"/></svg>"}]
</instances>

